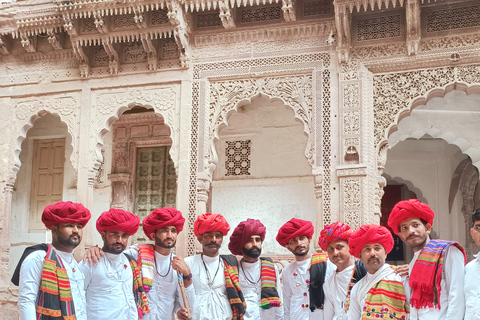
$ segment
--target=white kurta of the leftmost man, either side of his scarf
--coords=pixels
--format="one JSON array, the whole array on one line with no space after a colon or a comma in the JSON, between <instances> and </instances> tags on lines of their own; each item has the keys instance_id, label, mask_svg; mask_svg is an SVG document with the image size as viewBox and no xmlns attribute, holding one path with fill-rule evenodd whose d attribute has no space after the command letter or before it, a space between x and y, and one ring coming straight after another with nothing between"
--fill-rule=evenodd
<instances>
[{"instance_id":1,"label":"white kurta of the leftmost man, either side of his scarf","mask_svg":"<svg viewBox=\"0 0 480 320\"><path fill-rule=\"evenodd\" d=\"M87 311L83 274L78 263L73 258L73 253L59 250L55 250L55 252L62 260L67 271L77 320L86 320ZM36 319L37 296L40 290L40 283L42 282L42 269L46 255L46 251L34 251L25 258L20 268L18 308L20 309L20 319L22 320Z\"/></svg>"}]
</instances>

